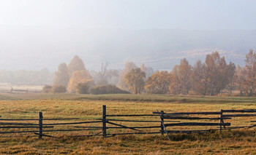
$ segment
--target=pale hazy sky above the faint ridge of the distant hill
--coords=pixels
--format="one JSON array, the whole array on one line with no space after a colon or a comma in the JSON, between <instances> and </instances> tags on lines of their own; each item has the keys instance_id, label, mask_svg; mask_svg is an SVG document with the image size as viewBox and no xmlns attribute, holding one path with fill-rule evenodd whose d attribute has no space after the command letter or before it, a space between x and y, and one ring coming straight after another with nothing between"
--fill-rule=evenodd
<instances>
[{"instance_id":1,"label":"pale hazy sky above the faint ridge of the distant hill","mask_svg":"<svg viewBox=\"0 0 256 155\"><path fill-rule=\"evenodd\" d=\"M0 0L0 25L255 29L255 0Z\"/></svg>"}]
</instances>

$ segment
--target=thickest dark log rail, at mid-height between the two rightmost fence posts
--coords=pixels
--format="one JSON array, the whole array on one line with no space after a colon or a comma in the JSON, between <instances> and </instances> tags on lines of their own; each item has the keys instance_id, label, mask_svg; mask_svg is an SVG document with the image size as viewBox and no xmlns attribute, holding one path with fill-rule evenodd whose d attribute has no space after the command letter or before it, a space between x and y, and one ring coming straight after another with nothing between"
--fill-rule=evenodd
<instances>
[{"instance_id":1,"label":"thickest dark log rail, at mid-height between the two rightmost fence posts","mask_svg":"<svg viewBox=\"0 0 256 155\"><path fill-rule=\"evenodd\" d=\"M165 127L173 127L173 126L219 126L219 125L230 126L230 123L184 122L184 123L165 124Z\"/></svg>"}]
</instances>

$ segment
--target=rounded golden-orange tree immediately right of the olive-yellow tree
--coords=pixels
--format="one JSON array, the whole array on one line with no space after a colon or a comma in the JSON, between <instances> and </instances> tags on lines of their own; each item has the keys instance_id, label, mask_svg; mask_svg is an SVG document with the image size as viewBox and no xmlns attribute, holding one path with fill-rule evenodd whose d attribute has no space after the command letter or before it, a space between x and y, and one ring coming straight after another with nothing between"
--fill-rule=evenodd
<instances>
[{"instance_id":1,"label":"rounded golden-orange tree immediately right of the olive-yellow tree","mask_svg":"<svg viewBox=\"0 0 256 155\"><path fill-rule=\"evenodd\" d=\"M169 85L171 82L170 73L167 71L157 71L152 76L148 77L146 82L146 92L155 94L165 94L169 91Z\"/></svg>"}]
</instances>

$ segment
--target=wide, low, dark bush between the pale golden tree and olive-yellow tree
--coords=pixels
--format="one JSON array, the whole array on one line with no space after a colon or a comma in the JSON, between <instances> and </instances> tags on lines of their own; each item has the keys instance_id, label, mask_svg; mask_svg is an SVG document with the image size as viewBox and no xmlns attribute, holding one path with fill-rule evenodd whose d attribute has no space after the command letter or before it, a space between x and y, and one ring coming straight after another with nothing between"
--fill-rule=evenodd
<instances>
[{"instance_id":1,"label":"wide, low, dark bush between the pale golden tree and olive-yellow tree","mask_svg":"<svg viewBox=\"0 0 256 155\"><path fill-rule=\"evenodd\" d=\"M98 95L98 94L130 94L125 90L121 90L115 85L105 85L94 87L91 89L91 94Z\"/></svg>"}]
</instances>

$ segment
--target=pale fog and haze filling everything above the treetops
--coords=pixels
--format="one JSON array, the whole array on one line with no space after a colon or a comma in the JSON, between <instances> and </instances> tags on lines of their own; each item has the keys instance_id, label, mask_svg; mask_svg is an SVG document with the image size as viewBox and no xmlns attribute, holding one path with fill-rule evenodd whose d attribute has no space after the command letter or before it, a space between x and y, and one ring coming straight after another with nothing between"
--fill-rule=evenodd
<instances>
[{"instance_id":1,"label":"pale fog and haze filling everything above the treetops","mask_svg":"<svg viewBox=\"0 0 256 155\"><path fill-rule=\"evenodd\" d=\"M126 61L170 70L219 51L244 63L255 49L255 1L1 1L0 70L56 71L81 57L89 70ZM242 57L242 58L241 58Z\"/></svg>"}]
</instances>

